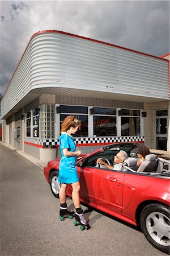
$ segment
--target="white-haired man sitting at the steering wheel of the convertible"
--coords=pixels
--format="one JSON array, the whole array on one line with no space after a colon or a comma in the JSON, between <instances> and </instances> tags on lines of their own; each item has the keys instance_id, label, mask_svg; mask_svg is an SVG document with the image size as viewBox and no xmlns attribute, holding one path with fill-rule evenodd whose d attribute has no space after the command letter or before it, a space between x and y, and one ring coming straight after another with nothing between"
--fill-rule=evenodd
<instances>
[{"instance_id":1,"label":"white-haired man sitting at the steering wheel of the convertible","mask_svg":"<svg viewBox=\"0 0 170 256\"><path fill-rule=\"evenodd\" d=\"M97 159L97 163L104 164L109 170L121 171L122 163L128 158L128 154L124 150L120 150L116 156L114 156L114 166L109 166L108 163L105 163L101 158Z\"/></svg>"}]
</instances>

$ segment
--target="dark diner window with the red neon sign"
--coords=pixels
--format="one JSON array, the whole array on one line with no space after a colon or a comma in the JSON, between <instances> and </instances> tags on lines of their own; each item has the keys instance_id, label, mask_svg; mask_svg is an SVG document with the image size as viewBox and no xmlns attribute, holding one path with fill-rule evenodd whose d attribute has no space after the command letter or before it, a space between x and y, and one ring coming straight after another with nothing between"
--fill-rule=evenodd
<instances>
[{"instance_id":1,"label":"dark diner window with the red neon sign","mask_svg":"<svg viewBox=\"0 0 170 256\"><path fill-rule=\"evenodd\" d=\"M116 136L116 109L93 108L94 112L94 135Z\"/></svg>"}]
</instances>

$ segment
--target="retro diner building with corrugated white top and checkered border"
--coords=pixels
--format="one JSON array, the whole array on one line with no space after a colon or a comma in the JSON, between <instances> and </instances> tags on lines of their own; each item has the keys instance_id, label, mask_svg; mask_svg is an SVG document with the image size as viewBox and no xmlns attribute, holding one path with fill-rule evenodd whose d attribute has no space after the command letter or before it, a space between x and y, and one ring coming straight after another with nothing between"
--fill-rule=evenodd
<instances>
[{"instance_id":1,"label":"retro diner building with corrugated white top and checkered border","mask_svg":"<svg viewBox=\"0 0 170 256\"><path fill-rule=\"evenodd\" d=\"M60 155L61 122L75 115L83 153L116 142L170 150L169 93L169 53L40 31L1 100L2 142L47 162Z\"/></svg>"}]
</instances>

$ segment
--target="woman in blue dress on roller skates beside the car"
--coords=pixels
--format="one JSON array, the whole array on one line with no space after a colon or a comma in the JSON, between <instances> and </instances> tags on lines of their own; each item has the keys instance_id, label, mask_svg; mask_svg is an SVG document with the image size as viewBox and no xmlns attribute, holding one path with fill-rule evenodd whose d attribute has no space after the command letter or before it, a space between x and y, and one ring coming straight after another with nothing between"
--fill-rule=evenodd
<instances>
[{"instance_id":1,"label":"woman in blue dress on roller skates beside the car","mask_svg":"<svg viewBox=\"0 0 170 256\"><path fill-rule=\"evenodd\" d=\"M75 207L75 220L78 224L86 226L87 229L90 225L83 216L83 209L80 207L79 190L80 183L78 173L75 167L76 156L81 154L80 150L75 151L75 142L71 134L75 134L79 130L80 121L72 115L67 116L61 125L61 136L59 137L59 148L61 151L61 160L59 162L59 175L58 182L61 183L59 189L60 211L59 216L74 216L72 210L67 209L66 204L66 188L71 184L73 188L72 199ZM61 218L62 220L62 218Z\"/></svg>"}]
</instances>

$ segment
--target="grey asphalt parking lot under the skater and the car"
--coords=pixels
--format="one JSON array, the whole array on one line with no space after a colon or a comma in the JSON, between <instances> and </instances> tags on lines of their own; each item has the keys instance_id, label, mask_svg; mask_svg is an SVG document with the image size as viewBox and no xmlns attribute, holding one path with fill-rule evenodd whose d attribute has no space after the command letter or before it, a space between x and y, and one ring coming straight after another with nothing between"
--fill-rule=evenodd
<instances>
[{"instance_id":1,"label":"grey asphalt parking lot under the skater and the car","mask_svg":"<svg viewBox=\"0 0 170 256\"><path fill-rule=\"evenodd\" d=\"M59 220L59 200L41 168L0 143L1 256L166 255L137 228L83 205L91 229ZM73 208L71 199L67 205Z\"/></svg>"}]
</instances>

